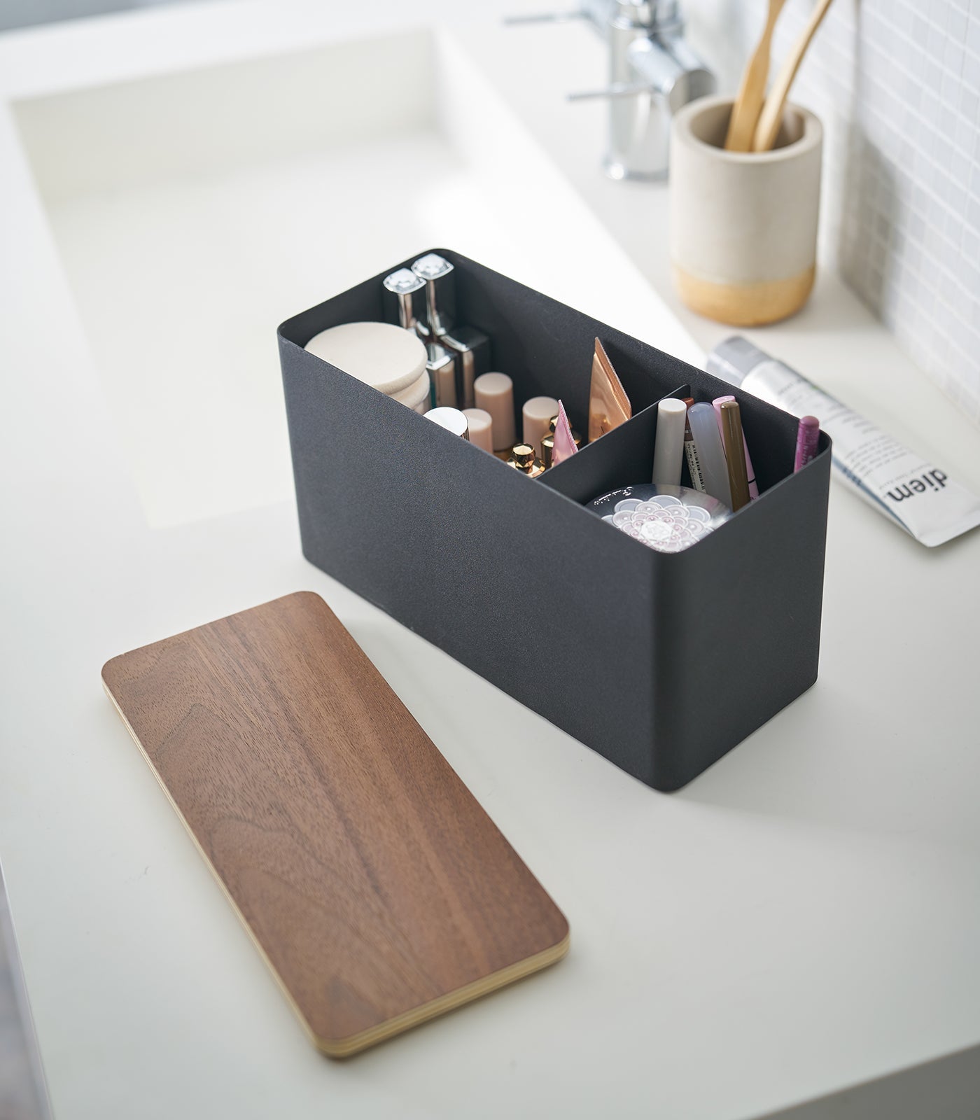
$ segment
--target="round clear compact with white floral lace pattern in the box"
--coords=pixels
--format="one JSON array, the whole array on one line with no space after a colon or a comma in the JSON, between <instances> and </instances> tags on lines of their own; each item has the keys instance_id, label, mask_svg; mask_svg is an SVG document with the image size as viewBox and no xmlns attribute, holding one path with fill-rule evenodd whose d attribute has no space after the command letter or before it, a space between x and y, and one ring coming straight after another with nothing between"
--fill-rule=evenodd
<instances>
[{"instance_id":1,"label":"round clear compact with white floral lace pattern in the box","mask_svg":"<svg viewBox=\"0 0 980 1120\"><path fill-rule=\"evenodd\" d=\"M594 498L586 506L620 532L657 552L682 552L730 516L724 502L663 483L640 483Z\"/></svg>"}]
</instances>

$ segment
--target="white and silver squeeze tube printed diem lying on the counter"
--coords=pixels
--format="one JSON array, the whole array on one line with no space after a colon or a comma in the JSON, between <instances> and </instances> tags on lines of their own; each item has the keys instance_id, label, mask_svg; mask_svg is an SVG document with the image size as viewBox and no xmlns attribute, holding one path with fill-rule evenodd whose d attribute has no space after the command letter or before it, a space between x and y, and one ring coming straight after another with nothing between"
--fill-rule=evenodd
<instances>
[{"instance_id":1,"label":"white and silver squeeze tube printed diem lying on the counter","mask_svg":"<svg viewBox=\"0 0 980 1120\"><path fill-rule=\"evenodd\" d=\"M748 339L716 346L708 372L795 417L819 417L841 476L927 548L980 525L980 497Z\"/></svg>"}]
</instances>

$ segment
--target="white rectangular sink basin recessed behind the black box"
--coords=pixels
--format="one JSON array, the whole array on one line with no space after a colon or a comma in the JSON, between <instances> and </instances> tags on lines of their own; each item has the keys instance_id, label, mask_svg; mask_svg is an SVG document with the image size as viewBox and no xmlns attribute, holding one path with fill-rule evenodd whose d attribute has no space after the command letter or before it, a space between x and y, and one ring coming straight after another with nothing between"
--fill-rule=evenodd
<instances>
[{"instance_id":1,"label":"white rectangular sink basin recessed behind the black box","mask_svg":"<svg viewBox=\"0 0 980 1120\"><path fill-rule=\"evenodd\" d=\"M155 526L291 494L276 352L288 316L437 244L579 301L582 271L622 287L632 269L427 29L16 113ZM585 309L661 346L672 333L697 360L638 277L636 307L601 306L610 287Z\"/></svg>"}]
</instances>

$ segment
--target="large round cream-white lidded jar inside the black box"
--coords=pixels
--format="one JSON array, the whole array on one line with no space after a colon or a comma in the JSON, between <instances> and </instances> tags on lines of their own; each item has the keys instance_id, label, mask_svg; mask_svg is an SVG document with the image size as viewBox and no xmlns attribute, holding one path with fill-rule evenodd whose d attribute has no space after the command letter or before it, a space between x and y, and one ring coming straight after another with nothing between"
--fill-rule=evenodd
<instances>
[{"instance_id":1,"label":"large round cream-white lidded jar inside the black box","mask_svg":"<svg viewBox=\"0 0 980 1120\"><path fill-rule=\"evenodd\" d=\"M306 348L389 396L419 381L428 357L421 338L391 323L343 323L314 335Z\"/></svg>"}]
</instances>

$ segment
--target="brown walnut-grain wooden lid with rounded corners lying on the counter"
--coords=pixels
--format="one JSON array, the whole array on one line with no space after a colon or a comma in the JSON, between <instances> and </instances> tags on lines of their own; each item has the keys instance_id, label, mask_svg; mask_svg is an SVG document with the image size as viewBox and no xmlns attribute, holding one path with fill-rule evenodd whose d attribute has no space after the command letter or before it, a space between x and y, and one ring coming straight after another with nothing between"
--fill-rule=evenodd
<instances>
[{"instance_id":1,"label":"brown walnut-grain wooden lid with rounded corners lying on the counter","mask_svg":"<svg viewBox=\"0 0 980 1120\"><path fill-rule=\"evenodd\" d=\"M102 678L325 1053L567 952L564 916L319 596L122 654Z\"/></svg>"}]
</instances>

